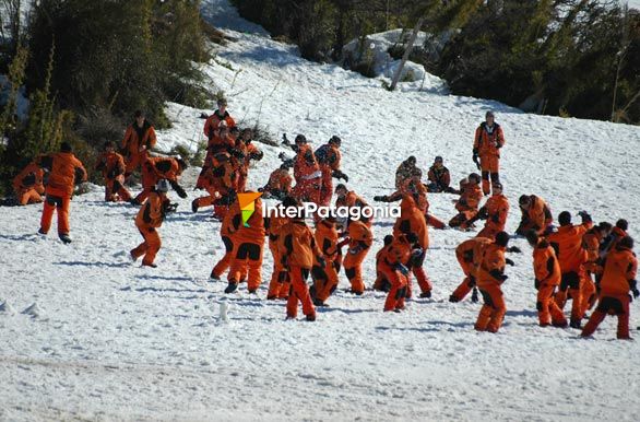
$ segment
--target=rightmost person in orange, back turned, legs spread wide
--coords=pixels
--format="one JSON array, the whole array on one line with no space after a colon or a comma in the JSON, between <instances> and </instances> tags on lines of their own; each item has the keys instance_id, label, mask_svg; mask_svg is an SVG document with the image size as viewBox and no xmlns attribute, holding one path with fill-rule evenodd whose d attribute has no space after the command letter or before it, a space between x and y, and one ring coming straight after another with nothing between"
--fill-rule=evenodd
<instances>
[{"instance_id":1,"label":"rightmost person in orange, back turned, legs spread wide","mask_svg":"<svg viewBox=\"0 0 640 422\"><path fill-rule=\"evenodd\" d=\"M617 338L630 340L629 336L629 303L631 296L640 296L636 281L638 258L633 254L633 239L623 237L616 247L607 255L602 276L601 295L597 307L582 329L582 337L590 337L607 315L618 317Z\"/></svg>"}]
</instances>

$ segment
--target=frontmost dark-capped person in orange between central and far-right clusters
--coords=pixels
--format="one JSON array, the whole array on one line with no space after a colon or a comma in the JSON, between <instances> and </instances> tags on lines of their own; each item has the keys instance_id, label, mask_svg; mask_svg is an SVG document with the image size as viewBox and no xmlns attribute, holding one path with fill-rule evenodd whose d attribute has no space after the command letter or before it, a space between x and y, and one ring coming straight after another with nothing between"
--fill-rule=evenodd
<instances>
[{"instance_id":1,"label":"frontmost dark-capped person in orange between central and far-right clusters","mask_svg":"<svg viewBox=\"0 0 640 422\"><path fill-rule=\"evenodd\" d=\"M505 258L508 244L509 234L500 232L496 235L496 241L483 246L479 254L474 256L477 289L484 300L474 326L476 331L498 332L502 326L507 305L500 286L508 279L505 266L513 265L512 260Z\"/></svg>"}]
</instances>

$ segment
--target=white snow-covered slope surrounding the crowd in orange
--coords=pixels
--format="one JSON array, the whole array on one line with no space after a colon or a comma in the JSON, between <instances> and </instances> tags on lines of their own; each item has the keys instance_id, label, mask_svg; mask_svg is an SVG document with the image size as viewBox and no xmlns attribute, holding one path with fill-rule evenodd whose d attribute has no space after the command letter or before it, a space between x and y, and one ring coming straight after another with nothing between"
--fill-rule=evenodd
<instances>
[{"instance_id":1,"label":"white snow-covered slope surrounding the crowd in orange","mask_svg":"<svg viewBox=\"0 0 640 422\"><path fill-rule=\"evenodd\" d=\"M473 131L491 108L507 139L508 230L526 192L547 199L555 215L624 216L640 234L639 128L526 115L419 92L419 83L390 93L379 80L300 59L225 0L203 1L203 14L237 38L204 69L237 120L259 121L274 137L301 132L315 145L339 134L349 187L365 198L391 192L410 154L424 169L443 155L455 181L474 171ZM169 104L168 114L174 128L158 133L162 149L201 140L200 110ZM253 188L283 151L260 146L265 159L250 174ZM473 330L478 305L447 301L463 278L453 249L473 235L452 230L430 232L432 298L383 314L381 293L337 292L316 323L285 321L284 303L265 301L264 284L256 297L209 283L224 250L220 224L191 213L198 192L189 194L161 228L157 269L128 260L141 241L137 209L104 203L97 188L73 200L69 246L55 230L35 234L40 207L2 209L0 420L638 420L638 343L611 341L612 320L596 340L540 328L523 241L514 244L524 254L507 270L509 310L498 335ZM431 195L432 213L451 218L452 199ZM390 225L376 222L374 250ZM271 269L266 254L264 280ZM222 301L230 304L228 323L218 317ZM34 303L35 316L22 314ZM631 308L635 328L640 309Z\"/></svg>"}]
</instances>

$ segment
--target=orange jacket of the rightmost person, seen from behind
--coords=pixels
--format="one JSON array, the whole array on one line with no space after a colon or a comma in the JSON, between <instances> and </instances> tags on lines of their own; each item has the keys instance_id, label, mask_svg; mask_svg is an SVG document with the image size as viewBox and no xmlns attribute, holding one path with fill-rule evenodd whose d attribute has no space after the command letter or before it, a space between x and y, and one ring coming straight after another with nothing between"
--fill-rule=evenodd
<instances>
[{"instance_id":1,"label":"orange jacket of the rightmost person, seen from behind","mask_svg":"<svg viewBox=\"0 0 640 422\"><path fill-rule=\"evenodd\" d=\"M636 280L638 259L630 249L616 247L606 257L600 286L601 296L627 295L629 282Z\"/></svg>"}]
</instances>

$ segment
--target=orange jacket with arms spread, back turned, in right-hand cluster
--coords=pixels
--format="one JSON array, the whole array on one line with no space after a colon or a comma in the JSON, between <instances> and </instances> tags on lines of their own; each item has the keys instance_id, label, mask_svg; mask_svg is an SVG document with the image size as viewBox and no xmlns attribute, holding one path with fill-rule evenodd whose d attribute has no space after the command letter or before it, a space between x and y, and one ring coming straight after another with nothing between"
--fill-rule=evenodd
<instances>
[{"instance_id":1,"label":"orange jacket with arms spread, back turned, in right-hand cluster","mask_svg":"<svg viewBox=\"0 0 640 422\"><path fill-rule=\"evenodd\" d=\"M562 273L580 272L581 266L586 262L586 250L582 247L582 236L593 226L592 222L581 225L565 225L547 236L556 250Z\"/></svg>"}]
</instances>

